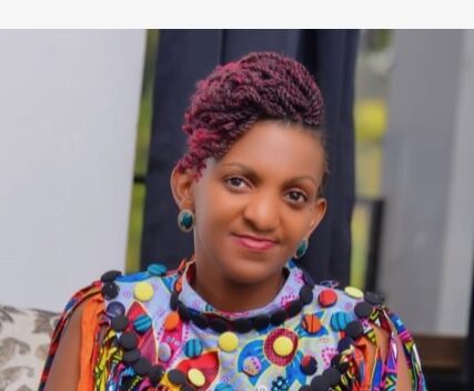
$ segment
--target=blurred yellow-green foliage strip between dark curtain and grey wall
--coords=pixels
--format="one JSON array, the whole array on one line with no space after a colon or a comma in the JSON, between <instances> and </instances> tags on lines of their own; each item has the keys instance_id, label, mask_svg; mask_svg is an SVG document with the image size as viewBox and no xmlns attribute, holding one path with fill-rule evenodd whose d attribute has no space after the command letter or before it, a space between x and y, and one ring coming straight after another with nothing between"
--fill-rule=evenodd
<instances>
[{"instance_id":1,"label":"blurred yellow-green foliage strip between dark curtain and grey wall","mask_svg":"<svg viewBox=\"0 0 474 391\"><path fill-rule=\"evenodd\" d=\"M359 96L354 103L356 199L381 198L383 139L389 122L385 94L390 68L374 68L373 57L364 54L391 56L391 30L363 30L361 33L356 69ZM377 58L379 62L384 60L382 57ZM380 72L381 69L387 72ZM361 289L365 285L367 255L373 245L370 243L371 212L366 203L356 202L351 222L351 284Z\"/></svg>"}]
</instances>

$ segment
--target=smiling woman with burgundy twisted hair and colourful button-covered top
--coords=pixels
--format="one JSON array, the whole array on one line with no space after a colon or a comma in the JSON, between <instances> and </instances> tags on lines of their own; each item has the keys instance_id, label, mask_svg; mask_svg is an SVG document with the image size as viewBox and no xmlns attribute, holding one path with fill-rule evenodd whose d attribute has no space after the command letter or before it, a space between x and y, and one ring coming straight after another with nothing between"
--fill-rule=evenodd
<instances>
[{"instance_id":1,"label":"smiling woman with burgundy twisted hair and colourful button-covered top","mask_svg":"<svg viewBox=\"0 0 474 391\"><path fill-rule=\"evenodd\" d=\"M294 262L326 210L323 99L304 67L276 53L218 67L183 129L171 189L194 255L78 292L40 390L424 390L379 295L315 285Z\"/></svg>"}]
</instances>

